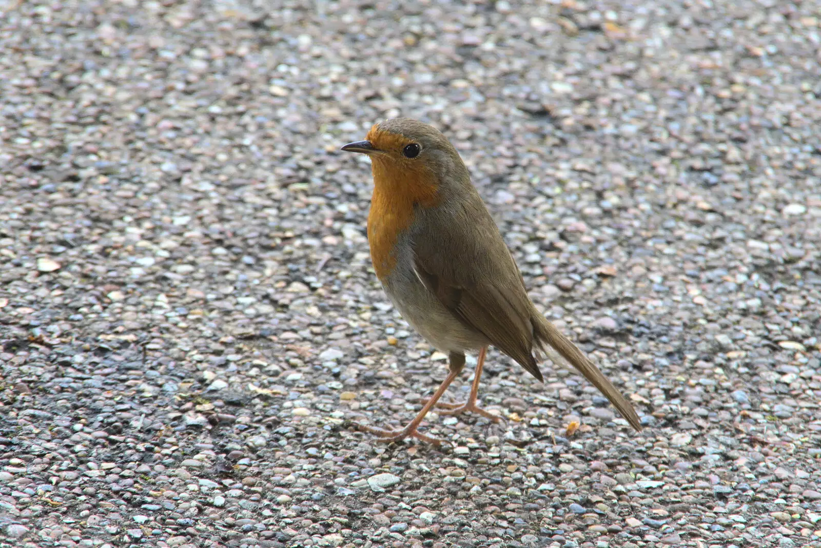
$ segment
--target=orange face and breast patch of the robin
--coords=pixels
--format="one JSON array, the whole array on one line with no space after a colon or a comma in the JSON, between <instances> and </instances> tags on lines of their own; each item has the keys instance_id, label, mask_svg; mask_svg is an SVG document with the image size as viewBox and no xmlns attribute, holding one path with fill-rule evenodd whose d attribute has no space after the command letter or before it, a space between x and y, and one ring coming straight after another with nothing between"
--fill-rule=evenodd
<instances>
[{"instance_id":1,"label":"orange face and breast patch of the robin","mask_svg":"<svg viewBox=\"0 0 821 548\"><path fill-rule=\"evenodd\" d=\"M399 235L413 222L414 206L438 203L438 179L424 158L409 160L401 149L413 141L374 126L367 139L382 153L371 154L374 194L370 199L368 241L374 271L380 280L397 264Z\"/></svg>"}]
</instances>

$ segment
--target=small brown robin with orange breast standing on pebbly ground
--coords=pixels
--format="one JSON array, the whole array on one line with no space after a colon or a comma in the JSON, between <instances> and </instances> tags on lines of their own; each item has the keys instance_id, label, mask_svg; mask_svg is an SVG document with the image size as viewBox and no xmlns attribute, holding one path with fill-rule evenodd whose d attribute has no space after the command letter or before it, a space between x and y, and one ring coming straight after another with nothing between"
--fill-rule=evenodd
<instances>
[{"instance_id":1,"label":"small brown robin with orange breast standing on pebbly ground","mask_svg":"<svg viewBox=\"0 0 821 548\"><path fill-rule=\"evenodd\" d=\"M465 367L465 353L474 351L479 356L470 396L464 404L438 405L446 409L443 414L472 411L498 422L498 416L476 404L484 357L493 345L539 381L537 356L571 363L632 427L641 429L633 406L536 310L465 163L440 131L395 118L342 150L371 159L368 240L376 276L402 317L449 360L447 377L405 428L357 427L384 441L415 437L441 443L418 428Z\"/></svg>"}]
</instances>

